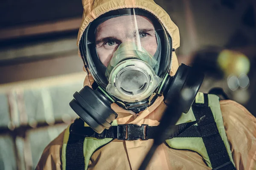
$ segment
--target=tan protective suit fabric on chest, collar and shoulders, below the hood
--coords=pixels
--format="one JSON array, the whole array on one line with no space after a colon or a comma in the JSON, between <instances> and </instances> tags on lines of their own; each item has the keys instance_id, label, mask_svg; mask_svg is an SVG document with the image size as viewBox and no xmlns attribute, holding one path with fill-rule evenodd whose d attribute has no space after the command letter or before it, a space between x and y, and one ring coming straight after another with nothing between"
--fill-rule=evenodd
<instances>
[{"instance_id":1,"label":"tan protective suit fabric on chest, collar and shoulders, below the hood","mask_svg":"<svg viewBox=\"0 0 256 170\"><path fill-rule=\"evenodd\" d=\"M160 100L159 100L160 101ZM157 101L157 102L159 102ZM224 127L230 143L232 156L237 170L256 169L256 118L240 104L223 100L220 102ZM136 118L130 113L119 113L118 124L136 123L158 125L161 111L160 104L147 116ZM144 117L145 116L145 117ZM37 170L61 170L61 146L63 133L52 141L44 150ZM153 140L119 141L117 139L96 150L90 158L89 170L136 170ZM207 170L203 158L190 150L177 150L161 144L147 170Z\"/></svg>"}]
</instances>

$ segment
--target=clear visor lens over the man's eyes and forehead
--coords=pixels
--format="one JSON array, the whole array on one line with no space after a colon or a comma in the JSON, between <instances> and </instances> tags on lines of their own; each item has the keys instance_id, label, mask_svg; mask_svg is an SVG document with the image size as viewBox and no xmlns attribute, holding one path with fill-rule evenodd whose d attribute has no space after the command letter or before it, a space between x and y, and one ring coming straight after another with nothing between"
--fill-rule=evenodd
<instances>
[{"instance_id":1,"label":"clear visor lens over the man's eyes and forehead","mask_svg":"<svg viewBox=\"0 0 256 170\"><path fill-rule=\"evenodd\" d=\"M107 76L126 58L143 60L157 74L159 62L155 54L160 49L156 31L148 18L133 14L112 17L96 28L95 42L98 57L107 67Z\"/></svg>"}]
</instances>

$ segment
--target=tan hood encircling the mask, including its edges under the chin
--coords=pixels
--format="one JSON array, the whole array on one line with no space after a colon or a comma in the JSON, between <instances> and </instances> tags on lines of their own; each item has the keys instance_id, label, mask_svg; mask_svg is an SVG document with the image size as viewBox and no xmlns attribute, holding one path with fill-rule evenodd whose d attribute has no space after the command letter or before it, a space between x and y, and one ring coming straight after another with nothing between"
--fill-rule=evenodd
<instances>
[{"instance_id":1,"label":"tan hood encircling the mask, including its edges under the chin","mask_svg":"<svg viewBox=\"0 0 256 170\"><path fill-rule=\"evenodd\" d=\"M79 42L81 40L82 34L84 33L84 30L87 28L89 23L91 23L97 17L99 17L102 14L105 14L108 11L121 9L121 8L141 8L146 11L149 11L154 16L156 16L158 20L160 20L160 22L166 28L168 34L172 37L172 47L176 49L180 46L180 34L179 34L178 27L171 20L167 12L164 11L163 8L158 6L153 0L82 0L82 3L84 7L84 13L83 13L82 23L79 28L79 34L77 39L78 46L79 46ZM81 57L80 51L79 51L79 56ZM178 65L177 56L175 52L172 52L172 66L170 71L170 74L172 76L176 73L178 66L179 65ZM84 80L84 86L88 85L89 87L91 87L93 81L94 81L93 77L89 73L89 75ZM140 119L143 119L143 117L147 116L149 113L154 111L162 101L163 101L163 96L158 97L157 101L155 101L153 105L151 105L147 110L140 113ZM123 110L115 103L111 105L111 108L116 113L118 113L119 118L122 117L120 116L120 114L129 113L129 111ZM131 114L128 114L128 115L131 115ZM119 122L126 122L126 123L130 122L128 121L129 117L130 116L125 116L125 119ZM136 119L136 120L139 121L139 119Z\"/></svg>"}]
</instances>

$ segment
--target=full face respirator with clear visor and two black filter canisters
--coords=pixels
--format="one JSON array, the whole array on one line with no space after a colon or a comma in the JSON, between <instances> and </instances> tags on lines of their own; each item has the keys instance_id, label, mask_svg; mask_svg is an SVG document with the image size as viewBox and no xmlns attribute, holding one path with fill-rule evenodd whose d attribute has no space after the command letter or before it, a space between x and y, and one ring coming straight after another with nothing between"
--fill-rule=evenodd
<instances>
[{"instance_id":1,"label":"full face respirator with clear visor and two black filter canisters","mask_svg":"<svg viewBox=\"0 0 256 170\"><path fill-rule=\"evenodd\" d=\"M109 129L119 107L139 113L159 96L167 106L177 91L189 89L187 113L204 74L181 64L170 76L172 38L154 15L138 8L110 11L84 31L79 49L95 82L76 92L70 107L97 133Z\"/></svg>"}]
</instances>

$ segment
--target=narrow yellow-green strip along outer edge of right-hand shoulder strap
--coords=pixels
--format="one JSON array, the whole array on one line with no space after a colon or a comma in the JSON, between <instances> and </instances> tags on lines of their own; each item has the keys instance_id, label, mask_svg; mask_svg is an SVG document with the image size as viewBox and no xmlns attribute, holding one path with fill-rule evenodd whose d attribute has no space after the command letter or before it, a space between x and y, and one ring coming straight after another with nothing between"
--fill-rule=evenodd
<instances>
[{"instance_id":1,"label":"narrow yellow-green strip along outer edge of right-hand shoulder strap","mask_svg":"<svg viewBox=\"0 0 256 170\"><path fill-rule=\"evenodd\" d=\"M212 110L212 114L213 114L214 120L217 124L218 131L221 135L221 139L223 140L223 142L225 144L225 147L227 149L227 153L228 153L228 156L230 157L230 161L235 166L235 163L234 163L234 160L233 160L233 157L232 157L232 153L231 153L231 149L230 149L230 145L229 145L228 140L227 140L227 134L226 134L226 131L225 131L224 123L223 123L219 97L214 95L214 94L208 94L208 103L209 103L209 107Z\"/></svg>"}]
</instances>

